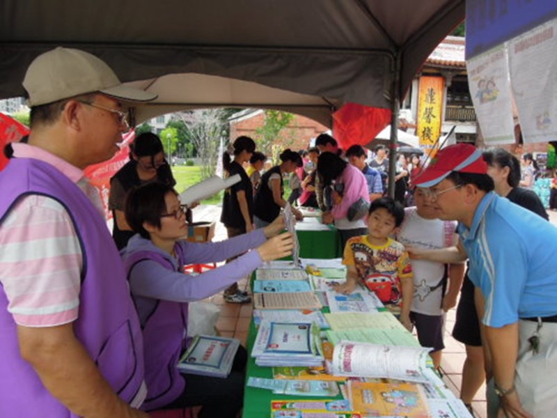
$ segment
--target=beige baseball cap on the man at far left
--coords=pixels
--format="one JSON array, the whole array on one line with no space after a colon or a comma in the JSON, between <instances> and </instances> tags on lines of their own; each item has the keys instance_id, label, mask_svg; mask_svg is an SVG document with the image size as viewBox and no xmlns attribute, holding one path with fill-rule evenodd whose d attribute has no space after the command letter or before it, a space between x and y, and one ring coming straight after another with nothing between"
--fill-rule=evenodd
<instances>
[{"instance_id":1,"label":"beige baseball cap on the man at far left","mask_svg":"<svg viewBox=\"0 0 557 418\"><path fill-rule=\"evenodd\" d=\"M93 54L58 47L33 60L23 80L29 107L99 91L126 102L157 98L139 88L123 86L111 68Z\"/></svg>"}]
</instances>

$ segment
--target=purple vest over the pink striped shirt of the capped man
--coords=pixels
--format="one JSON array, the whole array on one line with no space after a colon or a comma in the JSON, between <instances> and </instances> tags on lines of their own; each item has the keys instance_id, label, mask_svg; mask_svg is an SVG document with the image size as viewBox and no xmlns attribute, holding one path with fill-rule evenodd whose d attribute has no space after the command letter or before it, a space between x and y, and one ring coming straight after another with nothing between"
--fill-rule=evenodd
<instances>
[{"instance_id":1,"label":"purple vest over the pink striped shirt of the capped man","mask_svg":"<svg viewBox=\"0 0 557 418\"><path fill-rule=\"evenodd\" d=\"M84 192L51 165L13 158L0 171L0 225L15 202L42 194L68 210L83 254L74 332L114 391L132 401L143 382L141 329L120 255L104 219ZM0 286L0 417L76 417L19 355L17 328Z\"/></svg>"}]
</instances>

